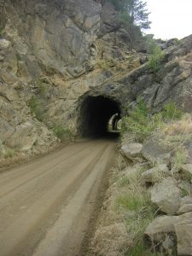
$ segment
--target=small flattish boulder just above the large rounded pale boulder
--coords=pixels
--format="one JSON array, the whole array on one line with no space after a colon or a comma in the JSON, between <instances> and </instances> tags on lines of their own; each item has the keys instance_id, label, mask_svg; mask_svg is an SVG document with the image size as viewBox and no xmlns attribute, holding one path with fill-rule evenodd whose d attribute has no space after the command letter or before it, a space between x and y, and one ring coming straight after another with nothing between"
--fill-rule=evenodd
<instances>
[{"instance_id":1,"label":"small flattish boulder just above the large rounded pale boulder","mask_svg":"<svg viewBox=\"0 0 192 256\"><path fill-rule=\"evenodd\" d=\"M170 177L172 173L165 164L159 164L154 168L142 173L143 181L146 183L160 182L165 177Z\"/></svg>"}]
</instances>

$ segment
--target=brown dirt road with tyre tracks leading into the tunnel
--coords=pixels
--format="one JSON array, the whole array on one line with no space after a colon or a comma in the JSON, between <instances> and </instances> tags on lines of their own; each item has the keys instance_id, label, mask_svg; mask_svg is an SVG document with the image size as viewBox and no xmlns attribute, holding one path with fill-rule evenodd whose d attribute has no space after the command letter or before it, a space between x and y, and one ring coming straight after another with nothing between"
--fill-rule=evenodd
<instances>
[{"instance_id":1,"label":"brown dirt road with tyre tracks leading into the tunnel","mask_svg":"<svg viewBox=\"0 0 192 256\"><path fill-rule=\"evenodd\" d=\"M70 144L0 174L0 256L79 256L114 148Z\"/></svg>"}]
</instances>

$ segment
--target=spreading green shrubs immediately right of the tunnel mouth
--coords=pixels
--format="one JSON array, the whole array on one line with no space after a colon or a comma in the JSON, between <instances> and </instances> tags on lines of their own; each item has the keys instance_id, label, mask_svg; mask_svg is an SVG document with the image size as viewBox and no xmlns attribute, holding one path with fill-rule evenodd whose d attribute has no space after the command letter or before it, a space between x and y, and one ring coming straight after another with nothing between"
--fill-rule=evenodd
<instances>
[{"instance_id":1,"label":"spreading green shrubs immediately right of the tunnel mouth","mask_svg":"<svg viewBox=\"0 0 192 256\"><path fill-rule=\"evenodd\" d=\"M139 99L137 106L122 120L121 135L130 133L138 143L145 139L157 128L160 128L167 121L181 119L183 113L177 109L175 103L167 103L160 113L151 114L147 104Z\"/></svg>"}]
</instances>

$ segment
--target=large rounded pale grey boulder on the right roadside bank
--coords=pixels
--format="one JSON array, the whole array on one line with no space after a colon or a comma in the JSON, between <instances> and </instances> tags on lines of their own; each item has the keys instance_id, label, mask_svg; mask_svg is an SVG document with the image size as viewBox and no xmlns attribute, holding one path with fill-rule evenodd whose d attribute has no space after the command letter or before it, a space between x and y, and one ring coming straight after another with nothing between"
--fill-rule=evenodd
<instances>
[{"instance_id":1,"label":"large rounded pale grey boulder on the right roadside bank","mask_svg":"<svg viewBox=\"0 0 192 256\"><path fill-rule=\"evenodd\" d=\"M150 190L151 201L167 214L175 214L180 206L181 191L177 188L177 181L167 177L161 183L155 183Z\"/></svg>"}]
</instances>

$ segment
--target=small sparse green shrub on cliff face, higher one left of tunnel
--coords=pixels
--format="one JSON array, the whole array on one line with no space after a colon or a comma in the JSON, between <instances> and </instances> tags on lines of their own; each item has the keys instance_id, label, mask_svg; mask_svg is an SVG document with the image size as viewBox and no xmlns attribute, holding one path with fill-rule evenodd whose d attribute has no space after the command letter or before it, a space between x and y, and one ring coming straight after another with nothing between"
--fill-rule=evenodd
<instances>
[{"instance_id":1,"label":"small sparse green shrub on cliff face, higher one left of tunnel","mask_svg":"<svg viewBox=\"0 0 192 256\"><path fill-rule=\"evenodd\" d=\"M32 98L28 102L28 106L29 108L31 108L31 113L34 113L35 117L39 121L42 121L44 119L44 108L37 96L32 96Z\"/></svg>"}]
</instances>

